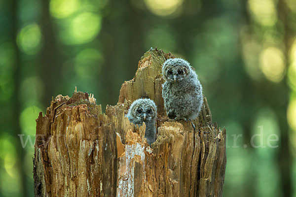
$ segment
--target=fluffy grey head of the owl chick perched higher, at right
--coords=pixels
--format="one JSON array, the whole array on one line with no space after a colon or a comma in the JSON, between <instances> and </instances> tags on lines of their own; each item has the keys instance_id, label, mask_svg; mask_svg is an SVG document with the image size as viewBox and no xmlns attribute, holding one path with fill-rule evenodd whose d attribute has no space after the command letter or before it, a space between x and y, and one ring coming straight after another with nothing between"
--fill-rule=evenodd
<instances>
[{"instance_id":1,"label":"fluffy grey head of the owl chick perched higher, at right","mask_svg":"<svg viewBox=\"0 0 296 197\"><path fill-rule=\"evenodd\" d=\"M189 72L189 63L181 58L168 59L162 66L162 76L169 82L182 81L188 77Z\"/></svg>"}]
</instances>

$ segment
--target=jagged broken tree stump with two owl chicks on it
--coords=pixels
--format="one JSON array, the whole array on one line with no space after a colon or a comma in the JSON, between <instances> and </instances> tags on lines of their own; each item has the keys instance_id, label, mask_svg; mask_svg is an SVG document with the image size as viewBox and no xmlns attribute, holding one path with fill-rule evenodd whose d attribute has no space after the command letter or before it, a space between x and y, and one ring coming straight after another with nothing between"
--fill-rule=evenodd
<instances>
[{"instance_id":1,"label":"jagged broken tree stump with two owl chicks on it","mask_svg":"<svg viewBox=\"0 0 296 197\"><path fill-rule=\"evenodd\" d=\"M161 97L161 66L168 58L173 56L148 51L106 114L87 93L51 101L46 115L37 119L36 197L222 197L226 131L212 124L206 98L193 121L196 131L189 122L168 120ZM151 148L145 124L136 127L124 116L141 97L158 106Z\"/></svg>"}]
</instances>

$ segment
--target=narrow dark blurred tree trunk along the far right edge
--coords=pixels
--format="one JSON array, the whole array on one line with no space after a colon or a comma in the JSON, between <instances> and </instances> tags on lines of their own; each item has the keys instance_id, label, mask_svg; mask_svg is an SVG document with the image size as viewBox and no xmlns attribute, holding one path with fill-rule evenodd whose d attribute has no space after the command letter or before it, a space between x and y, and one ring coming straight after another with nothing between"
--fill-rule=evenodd
<instances>
[{"instance_id":1,"label":"narrow dark blurred tree trunk along the far right edge","mask_svg":"<svg viewBox=\"0 0 296 197\"><path fill-rule=\"evenodd\" d=\"M295 36L291 31L294 28L294 23L290 21L289 9L287 8L286 2L284 0L279 0L278 2L278 14L279 19L283 24L283 38L284 38L284 54L286 67L289 67L289 51L292 44L292 40ZM291 27L291 24L293 24ZM287 121L287 108L289 104L289 87L287 85L287 74L280 84L280 90L276 91L277 95L280 95L278 98L279 104L272 105L275 111L277 111L277 116L279 120L279 126L281 130L280 137L280 146L278 152L278 165L280 169L280 183L283 191L283 197L292 197L292 166L293 166L293 156L290 151L290 139L289 139L289 126ZM279 91L283 91L286 94L279 94Z\"/></svg>"}]
</instances>

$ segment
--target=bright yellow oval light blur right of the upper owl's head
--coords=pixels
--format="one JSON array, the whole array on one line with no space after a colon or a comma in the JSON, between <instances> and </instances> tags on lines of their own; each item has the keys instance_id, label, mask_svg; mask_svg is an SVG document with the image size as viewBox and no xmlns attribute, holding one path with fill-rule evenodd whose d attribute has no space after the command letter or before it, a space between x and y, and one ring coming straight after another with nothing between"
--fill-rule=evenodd
<instances>
[{"instance_id":1,"label":"bright yellow oval light blur right of the upper owl's head","mask_svg":"<svg viewBox=\"0 0 296 197\"><path fill-rule=\"evenodd\" d=\"M273 82L280 82L285 74L283 52L275 47L268 47L260 54L260 68L264 76Z\"/></svg>"}]
</instances>

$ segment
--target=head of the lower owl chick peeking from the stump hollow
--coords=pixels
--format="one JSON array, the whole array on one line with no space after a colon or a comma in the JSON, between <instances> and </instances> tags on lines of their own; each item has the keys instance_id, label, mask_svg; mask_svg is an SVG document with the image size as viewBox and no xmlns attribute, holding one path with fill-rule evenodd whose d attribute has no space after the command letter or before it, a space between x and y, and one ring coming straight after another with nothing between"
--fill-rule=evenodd
<instances>
[{"instance_id":1,"label":"head of the lower owl chick peeking from the stump hollow","mask_svg":"<svg viewBox=\"0 0 296 197\"><path fill-rule=\"evenodd\" d=\"M151 99L137 99L131 104L129 114L137 124L142 124L156 119L157 108Z\"/></svg>"}]
</instances>

